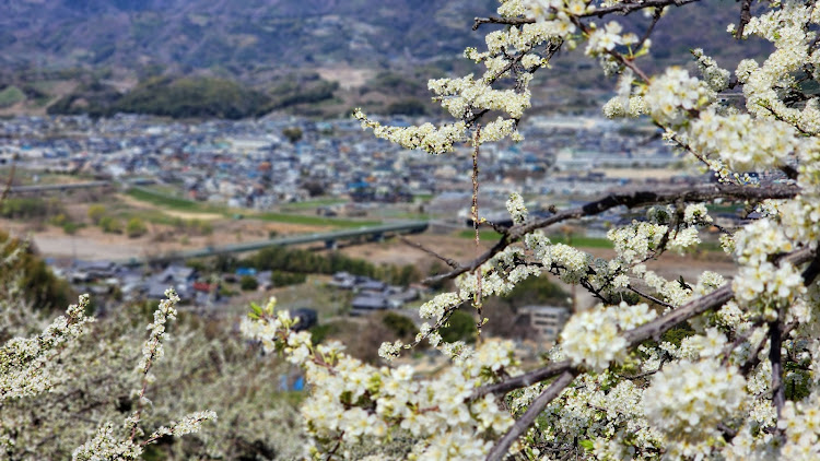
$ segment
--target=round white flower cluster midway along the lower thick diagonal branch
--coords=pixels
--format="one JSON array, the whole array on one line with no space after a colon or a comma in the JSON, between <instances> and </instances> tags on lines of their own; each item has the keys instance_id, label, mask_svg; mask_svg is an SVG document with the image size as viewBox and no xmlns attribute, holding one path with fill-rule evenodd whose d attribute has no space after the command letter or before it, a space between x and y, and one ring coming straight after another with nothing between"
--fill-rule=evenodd
<instances>
[{"instance_id":1,"label":"round white flower cluster midway along the lower thick diagonal branch","mask_svg":"<svg viewBox=\"0 0 820 461\"><path fill-rule=\"evenodd\" d=\"M561 332L561 348L573 363L602 370L626 357L626 340L621 331L654 319L657 314L646 304L618 307L599 305L575 314Z\"/></svg>"}]
</instances>

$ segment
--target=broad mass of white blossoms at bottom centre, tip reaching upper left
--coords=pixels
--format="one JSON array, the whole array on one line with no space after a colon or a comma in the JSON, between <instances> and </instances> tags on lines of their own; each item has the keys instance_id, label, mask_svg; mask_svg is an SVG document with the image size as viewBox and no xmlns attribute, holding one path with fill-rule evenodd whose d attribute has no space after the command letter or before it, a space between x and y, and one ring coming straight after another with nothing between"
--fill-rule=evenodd
<instances>
[{"instance_id":1,"label":"broad mass of white blossoms at bottom centre, tip reaching upper left","mask_svg":"<svg viewBox=\"0 0 820 461\"><path fill-rule=\"evenodd\" d=\"M263 344L286 344L289 362L302 366L314 385L301 409L314 450L338 444L344 452L364 437L389 440L403 433L413 436L418 459L473 460L487 456L489 435L513 423L492 394L470 400L477 387L518 373L512 342L488 341L435 379L420 380L408 365L375 368L344 355L338 344L294 341L295 333L273 317L248 321L243 330ZM293 343L307 347L308 354Z\"/></svg>"}]
</instances>

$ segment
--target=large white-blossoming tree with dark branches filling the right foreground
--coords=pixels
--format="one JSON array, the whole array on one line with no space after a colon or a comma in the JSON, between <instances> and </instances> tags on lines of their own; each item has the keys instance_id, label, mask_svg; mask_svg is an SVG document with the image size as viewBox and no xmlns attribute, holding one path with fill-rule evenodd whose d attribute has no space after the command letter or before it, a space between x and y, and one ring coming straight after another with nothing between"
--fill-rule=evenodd
<instances>
[{"instance_id":1,"label":"large white-blossoming tree with dark branches filling the right foreground","mask_svg":"<svg viewBox=\"0 0 820 461\"><path fill-rule=\"evenodd\" d=\"M410 366L365 365L339 344L313 345L273 303L257 309L246 334L283 351L312 383L302 413L314 454L820 459L820 107L804 85L820 74L820 9L772 1L752 16L751 0L741 0L727 33L771 42L765 60L743 60L730 72L694 50L699 74L671 68L649 75L642 62L655 24L694 1L501 0L499 15L478 17L475 27L503 27L487 35L484 50L465 52L485 67L483 74L429 83L455 121L386 127L356 111L365 129L407 149L446 155L469 143L475 192L481 145L522 138L534 73L549 72L557 51L583 47L605 74L618 75L606 116L651 119L719 182L624 190L537 218L511 197L513 225L477 259L450 261L441 277L454 277L457 289L421 307L427 322L417 342L452 357L429 379L417 379ZM624 33L620 16L641 12L646 33ZM722 103L730 88L742 91L745 107ZM764 170L786 179L745 177ZM748 201L762 216L722 229L723 247L737 261L734 279L704 272L690 286L648 270L645 262L665 251L700 243L699 230L712 223L705 203L717 199ZM553 244L542 232L619 206L647 208L647 218L610 230L609 260ZM600 303L575 312L542 366L519 369L509 342L442 342L437 330L454 310L471 305L481 318L482 299L546 274ZM620 302L635 296L637 303ZM671 341L669 332L681 327L684 338ZM384 344L380 353L391 358L413 345Z\"/></svg>"}]
</instances>

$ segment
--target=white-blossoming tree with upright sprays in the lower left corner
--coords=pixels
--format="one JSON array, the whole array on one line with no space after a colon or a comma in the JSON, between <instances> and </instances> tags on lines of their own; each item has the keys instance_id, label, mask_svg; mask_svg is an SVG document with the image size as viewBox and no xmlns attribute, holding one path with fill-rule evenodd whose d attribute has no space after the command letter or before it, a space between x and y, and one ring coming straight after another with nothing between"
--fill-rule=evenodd
<instances>
[{"instance_id":1,"label":"white-blossoming tree with upright sprays in the lower left corner","mask_svg":"<svg viewBox=\"0 0 820 461\"><path fill-rule=\"evenodd\" d=\"M160 439L197 433L203 423L216 418L212 411L197 411L168 425L155 426L150 434L144 432L144 416L150 413L147 407L153 406L147 394L154 382L151 370L164 355L166 323L177 315L179 297L173 289L165 293L167 299L160 304L148 327L149 338L142 345L136 374L121 374L114 368L119 365L116 358L128 355L122 338L98 335L95 348L81 351L82 336L96 321L85 314L87 295L69 306L65 316L47 323L38 318L26 300L17 264L25 248L15 239L0 236L0 459L65 459L69 453L60 448L66 439L82 437L85 442L70 452L74 460L136 460ZM78 379L78 375L84 375L87 381ZM119 417L120 424L95 421L99 414L112 416L101 410L114 406L110 403L118 400L118 391L126 391L114 383L132 383L124 376L138 378L139 389L124 399L129 406L133 399L133 411L122 409L128 416ZM69 390L69 382L78 386ZM99 399L96 391L103 394ZM119 416L120 412L114 413ZM84 432L89 423L96 426L93 434Z\"/></svg>"}]
</instances>

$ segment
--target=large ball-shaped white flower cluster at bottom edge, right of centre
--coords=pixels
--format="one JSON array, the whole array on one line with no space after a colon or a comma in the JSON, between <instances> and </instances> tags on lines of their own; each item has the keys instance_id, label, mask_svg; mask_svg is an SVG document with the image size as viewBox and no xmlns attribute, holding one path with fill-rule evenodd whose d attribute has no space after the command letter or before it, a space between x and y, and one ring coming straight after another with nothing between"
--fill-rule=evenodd
<instances>
[{"instance_id":1,"label":"large ball-shaped white flower cluster at bottom edge, right of centre","mask_svg":"<svg viewBox=\"0 0 820 461\"><path fill-rule=\"evenodd\" d=\"M737 368L715 358L672 363L655 375L643 404L647 419L667 439L667 456L702 458L721 444L716 426L740 410L745 386Z\"/></svg>"}]
</instances>

